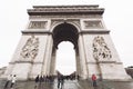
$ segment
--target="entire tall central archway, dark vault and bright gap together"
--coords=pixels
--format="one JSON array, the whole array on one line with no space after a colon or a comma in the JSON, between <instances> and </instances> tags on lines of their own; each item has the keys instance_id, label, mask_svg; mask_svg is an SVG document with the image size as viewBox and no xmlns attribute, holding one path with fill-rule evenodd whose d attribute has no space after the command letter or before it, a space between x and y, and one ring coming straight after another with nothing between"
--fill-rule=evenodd
<instances>
[{"instance_id":1,"label":"entire tall central archway, dark vault and bright gap together","mask_svg":"<svg viewBox=\"0 0 133 89\"><path fill-rule=\"evenodd\" d=\"M64 22L53 29L52 37L55 52L55 70L62 75L71 75L78 71L78 29L73 24Z\"/></svg>"}]
</instances>

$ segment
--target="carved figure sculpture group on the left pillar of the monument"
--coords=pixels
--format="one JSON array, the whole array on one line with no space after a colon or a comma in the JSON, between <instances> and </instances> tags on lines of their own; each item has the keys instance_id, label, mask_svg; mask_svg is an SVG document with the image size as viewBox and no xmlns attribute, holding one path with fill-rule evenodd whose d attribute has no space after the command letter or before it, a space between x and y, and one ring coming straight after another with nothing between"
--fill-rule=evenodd
<instances>
[{"instance_id":1,"label":"carved figure sculpture group on the left pillar of the monument","mask_svg":"<svg viewBox=\"0 0 133 89\"><path fill-rule=\"evenodd\" d=\"M32 36L27 40L27 43L22 48L21 56L25 59L34 59L39 51L39 38Z\"/></svg>"}]
</instances>

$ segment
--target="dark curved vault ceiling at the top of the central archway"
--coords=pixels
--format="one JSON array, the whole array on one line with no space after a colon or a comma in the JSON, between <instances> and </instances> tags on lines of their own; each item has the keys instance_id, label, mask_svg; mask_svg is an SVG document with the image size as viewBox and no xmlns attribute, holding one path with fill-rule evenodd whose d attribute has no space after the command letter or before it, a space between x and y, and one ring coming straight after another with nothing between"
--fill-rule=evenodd
<instances>
[{"instance_id":1,"label":"dark curved vault ceiling at the top of the central archway","mask_svg":"<svg viewBox=\"0 0 133 89\"><path fill-rule=\"evenodd\" d=\"M71 23L60 23L58 24L52 32L53 46L58 48L58 44L61 41L70 41L74 44L74 48L78 48L79 31Z\"/></svg>"}]
</instances>

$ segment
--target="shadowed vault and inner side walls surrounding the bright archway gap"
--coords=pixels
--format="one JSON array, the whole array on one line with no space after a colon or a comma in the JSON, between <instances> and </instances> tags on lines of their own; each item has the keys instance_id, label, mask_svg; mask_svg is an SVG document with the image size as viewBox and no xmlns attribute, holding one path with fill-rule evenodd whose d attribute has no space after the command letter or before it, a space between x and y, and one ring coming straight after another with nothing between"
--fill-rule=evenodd
<instances>
[{"instance_id":1,"label":"shadowed vault and inner side walls surrounding the bright archway gap","mask_svg":"<svg viewBox=\"0 0 133 89\"><path fill-rule=\"evenodd\" d=\"M74 46L75 61L76 61L75 68L76 68L76 73L80 75L80 67L78 67L78 62L80 62L79 61L79 46L78 46L79 29L75 26L68 23L68 22L60 23L53 28L52 39L53 39L53 48L52 48L50 73L53 75L55 72L55 52L58 49L58 44L62 41L70 41Z\"/></svg>"}]
</instances>

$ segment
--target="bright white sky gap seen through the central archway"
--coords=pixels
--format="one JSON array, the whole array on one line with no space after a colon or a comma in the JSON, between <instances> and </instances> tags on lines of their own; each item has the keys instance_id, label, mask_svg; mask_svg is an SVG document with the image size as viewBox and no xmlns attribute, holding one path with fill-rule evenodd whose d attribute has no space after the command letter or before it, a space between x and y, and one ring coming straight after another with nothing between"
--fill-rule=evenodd
<instances>
[{"instance_id":1,"label":"bright white sky gap seen through the central archway","mask_svg":"<svg viewBox=\"0 0 133 89\"><path fill-rule=\"evenodd\" d=\"M75 50L69 41L62 41L58 46L55 70L62 75L71 75L76 71Z\"/></svg>"}]
</instances>

